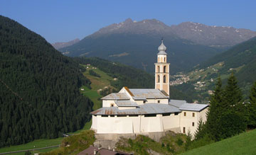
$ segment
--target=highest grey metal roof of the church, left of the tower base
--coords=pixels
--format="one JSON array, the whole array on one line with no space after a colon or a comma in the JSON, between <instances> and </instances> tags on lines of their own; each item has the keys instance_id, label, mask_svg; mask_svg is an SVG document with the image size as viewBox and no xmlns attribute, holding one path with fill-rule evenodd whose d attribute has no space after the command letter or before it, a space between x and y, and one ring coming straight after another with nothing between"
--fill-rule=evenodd
<instances>
[{"instance_id":1,"label":"highest grey metal roof of the church, left of the tower base","mask_svg":"<svg viewBox=\"0 0 256 155\"><path fill-rule=\"evenodd\" d=\"M154 88L130 88L129 91L134 95L134 100L146 100L150 98L169 98L161 91Z\"/></svg>"}]
</instances>

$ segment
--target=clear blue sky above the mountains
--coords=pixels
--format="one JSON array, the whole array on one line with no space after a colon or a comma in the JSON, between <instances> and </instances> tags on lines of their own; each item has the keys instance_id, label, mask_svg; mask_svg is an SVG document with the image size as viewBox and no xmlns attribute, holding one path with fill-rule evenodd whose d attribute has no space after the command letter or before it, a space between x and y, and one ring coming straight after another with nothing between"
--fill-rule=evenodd
<instances>
[{"instance_id":1,"label":"clear blue sky above the mountains","mask_svg":"<svg viewBox=\"0 0 256 155\"><path fill-rule=\"evenodd\" d=\"M6 16L50 43L85 38L112 23L155 18L256 31L255 0L0 0Z\"/></svg>"}]
</instances>

